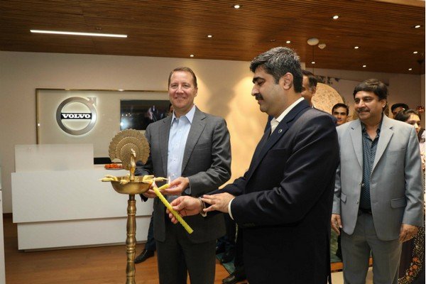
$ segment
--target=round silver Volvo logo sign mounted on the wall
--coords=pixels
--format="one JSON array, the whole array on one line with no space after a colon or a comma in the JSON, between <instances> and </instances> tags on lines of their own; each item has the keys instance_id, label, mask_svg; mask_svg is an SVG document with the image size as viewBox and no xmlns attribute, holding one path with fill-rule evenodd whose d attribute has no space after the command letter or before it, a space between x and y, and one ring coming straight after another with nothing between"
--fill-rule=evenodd
<instances>
[{"instance_id":1,"label":"round silver Volvo logo sign mounted on the wall","mask_svg":"<svg viewBox=\"0 0 426 284\"><path fill-rule=\"evenodd\" d=\"M71 135L83 135L96 123L96 98L70 97L61 102L56 110L60 129Z\"/></svg>"}]
</instances>

